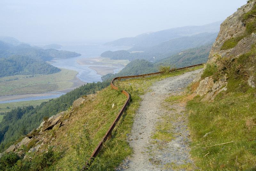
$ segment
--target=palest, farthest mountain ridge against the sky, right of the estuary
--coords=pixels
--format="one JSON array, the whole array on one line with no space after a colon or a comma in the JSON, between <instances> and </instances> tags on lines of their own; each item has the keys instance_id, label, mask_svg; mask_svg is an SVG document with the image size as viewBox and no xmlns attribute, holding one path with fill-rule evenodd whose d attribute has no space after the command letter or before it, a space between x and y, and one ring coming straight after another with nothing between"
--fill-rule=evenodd
<instances>
[{"instance_id":1,"label":"palest, farthest mountain ridge against the sky, right of the estuary","mask_svg":"<svg viewBox=\"0 0 256 171\"><path fill-rule=\"evenodd\" d=\"M215 33L220 30L220 23L222 21L217 21L214 23L202 25L202 26L185 26L185 27L177 27L170 28L166 30L161 30L152 33L144 33L141 35L137 35L136 37L125 37L121 39L117 39L112 42L105 43L104 45L113 45L113 46L154 46L164 41L169 41L171 39L190 36L199 33Z\"/></svg>"}]
</instances>

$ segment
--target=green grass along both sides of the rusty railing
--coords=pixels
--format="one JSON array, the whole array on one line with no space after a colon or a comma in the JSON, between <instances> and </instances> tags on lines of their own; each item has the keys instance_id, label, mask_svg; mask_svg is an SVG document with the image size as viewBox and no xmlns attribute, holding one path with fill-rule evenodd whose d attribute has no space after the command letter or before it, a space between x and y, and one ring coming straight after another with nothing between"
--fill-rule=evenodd
<instances>
[{"instance_id":1,"label":"green grass along both sides of the rusty railing","mask_svg":"<svg viewBox=\"0 0 256 171\"><path fill-rule=\"evenodd\" d=\"M180 75L185 72L198 69L200 67L202 66L179 70L169 74L162 74L148 78L138 78L125 80L122 82L116 82L116 85L121 87L121 89L126 89L131 94L131 103L119 120L118 124L116 125L116 128L112 133L112 138L104 143L103 149L100 151L100 154L95 159L92 168L90 169L113 170L127 156L132 154L132 149L127 143L127 135L129 135L131 132L133 117L140 105L140 95L146 93L154 82L160 81L170 76ZM100 105L100 107L95 104L95 101L84 104L84 107L81 107L79 109L82 114L84 113L83 117L80 117L79 121L76 122L76 125L72 126L72 130L68 131L68 135L72 135L72 137L70 138L74 140L71 140L69 138L67 139L66 136L63 136L63 139L57 139L57 142L65 141L67 142L67 144L70 144L70 141L76 143L79 142L77 141L77 138L74 137L81 137L81 125L86 123L86 129L91 130L89 131L91 138L90 144L93 145L89 149L86 148L86 156L79 156L74 149L69 149L70 151L67 151L67 155L60 159L60 161L54 166L55 169L75 170L76 167L81 167L81 163L84 163L85 159L89 158L89 155L92 153L97 143L106 133L107 128L111 125L116 114L124 104L124 100L124 95L119 94L118 91L110 89L108 87L97 94L96 101L97 104ZM113 103L115 104L115 107L112 109L111 106ZM65 134L66 133L67 132L65 132ZM77 165L79 163L80 165ZM98 168L96 169L95 167Z\"/></svg>"}]
</instances>

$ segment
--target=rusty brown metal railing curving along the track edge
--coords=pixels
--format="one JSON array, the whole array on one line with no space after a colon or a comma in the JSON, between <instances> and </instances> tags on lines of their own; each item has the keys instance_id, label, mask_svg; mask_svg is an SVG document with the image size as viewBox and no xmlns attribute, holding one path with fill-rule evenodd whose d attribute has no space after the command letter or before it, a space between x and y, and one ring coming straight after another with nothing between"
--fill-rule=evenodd
<instances>
[{"instance_id":1,"label":"rusty brown metal railing curving along the track edge","mask_svg":"<svg viewBox=\"0 0 256 171\"><path fill-rule=\"evenodd\" d=\"M203 63L204 64L204 63ZM178 68L178 69L172 69L171 71L176 71L176 70L180 70L180 69L185 69L185 68L190 68L190 67L194 67L194 66L199 66L199 65L203 65L203 64L197 64L197 65L192 65L192 66L186 66L186 67L182 67L182 68ZM150 73L150 74L142 74L142 75L132 75L132 76L123 76L123 77L115 77L113 78L113 80L110 83L110 86L112 89L116 89L118 90L118 87L116 87L114 85L114 81L116 80L121 80L121 79L127 79L127 78L135 78L135 77L146 77L146 76L150 76L150 75L156 75L156 74L162 74L164 72L157 72L157 73ZM107 133L105 134L105 136L102 138L102 140L100 141L100 143L97 145L97 147L94 149L94 151L92 152L91 157L88 159L88 161L86 162L85 166L82 167L82 170L85 170L87 167L86 166L90 166L90 164L92 163L93 159L99 154L103 143L108 139L111 138L112 136L112 131L116 126L116 123L118 122L118 120L121 118L122 114L124 113L126 107L128 106L129 102L130 102L130 94L125 91L122 90L122 93L126 96L126 102L124 103L122 109L119 111L118 115L116 116L116 119L113 121L112 125L109 127ZM81 171L82 171L81 170Z\"/></svg>"}]
</instances>

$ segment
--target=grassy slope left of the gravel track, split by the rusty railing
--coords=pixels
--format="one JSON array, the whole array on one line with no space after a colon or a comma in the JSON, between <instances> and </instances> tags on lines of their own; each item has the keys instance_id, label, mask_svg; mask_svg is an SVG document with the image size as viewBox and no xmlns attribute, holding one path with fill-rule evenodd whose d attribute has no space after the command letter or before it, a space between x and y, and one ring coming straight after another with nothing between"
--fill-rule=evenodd
<instances>
[{"instance_id":1,"label":"grassy slope left of the gravel track, split by the rusty railing","mask_svg":"<svg viewBox=\"0 0 256 171\"><path fill-rule=\"evenodd\" d=\"M131 131L133 116L139 107L141 100L139 96L147 92L153 82L197 68L199 67L144 79L117 82L118 86L130 92L132 100L114 129L112 138L104 144L103 150L90 169L113 170L126 156L132 154L132 149L126 142L127 135ZM96 97L87 98L91 99L72 113L69 126L47 133L47 136L55 138L51 145L56 145L57 151L62 152L61 159L52 166L56 170L81 168L112 124L126 99L123 94L110 87L99 91ZM115 104L113 108L112 104ZM48 144L46 143L44 147L48 148Z\"/></svg>"}]
</instances>

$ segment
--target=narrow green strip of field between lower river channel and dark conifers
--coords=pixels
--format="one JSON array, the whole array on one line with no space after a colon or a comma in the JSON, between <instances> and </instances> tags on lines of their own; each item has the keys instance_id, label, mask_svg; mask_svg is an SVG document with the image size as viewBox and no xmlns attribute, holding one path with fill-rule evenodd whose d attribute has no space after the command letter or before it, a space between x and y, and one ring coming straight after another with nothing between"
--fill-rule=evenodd
<instances>
[{"instance_id":1,"label":"narrow green strip of field between lower river channel and dark conifers","mask_svg":"<svg viewBox=\"0 0 256 171\"><path fill-rule=\"evenodd\" d=\"M9 112L12 109L16 108L16 107L23 107L23 106L36 106L36 105L40 105L42 102L46 102L49 99L42 99L42 100L30 100L30 101L22 101L22 102L12 102L12 103L3 103L0 104L0 113L3 112ZM0 120L2 115L0 115Z\"/></svg>"}]
</instances>

